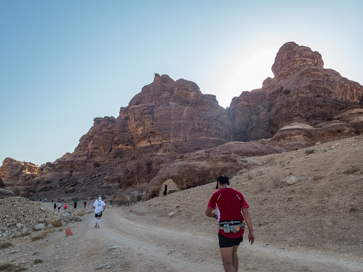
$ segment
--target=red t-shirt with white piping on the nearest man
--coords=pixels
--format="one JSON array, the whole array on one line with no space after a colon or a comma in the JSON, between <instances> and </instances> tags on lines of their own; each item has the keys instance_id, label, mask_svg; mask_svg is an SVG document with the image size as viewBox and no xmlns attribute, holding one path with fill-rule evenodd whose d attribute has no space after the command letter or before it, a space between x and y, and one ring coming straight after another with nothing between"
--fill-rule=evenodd
<instances>
[{"instance_id":1,"label":"red t-shirt with white piping on the nearest man","mask_svg":"<svg viewBox=\"0 0 363 272\"><path fill-rule=\"evenodd\" d=\"M232 188L222 188L216 191L211 200L209 200L208 207L212 210L217 210L218 222L223 221L243 221L241 210L248 208L243 195ZM234 233L232 231L225 233L224 230L219 229L219 233L228 238L241 237L244 230Z\"/></svg>"}]
</instances>

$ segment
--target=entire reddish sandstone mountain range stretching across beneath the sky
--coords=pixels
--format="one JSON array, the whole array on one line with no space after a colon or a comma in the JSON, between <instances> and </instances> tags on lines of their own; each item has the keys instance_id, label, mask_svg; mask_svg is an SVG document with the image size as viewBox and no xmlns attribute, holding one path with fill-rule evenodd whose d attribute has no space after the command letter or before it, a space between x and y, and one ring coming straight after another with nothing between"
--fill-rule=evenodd
<instances>
[{"instance_id":1,"label":"entire reddish sandstone mountain range stretching across beneath the sky","mask_svg":"<svg viewBox=\"0 0 363 272\"><path fill-rule=\"evenodd\" d=\"M44 191L150 199L233 176L244 156L293 151L363 132L363 87L323 68L317 51L284 44L274 78L228 110L191 81L155 74L119 116L95 118L75 151L40 167L6 158L2 195ZM133 188L133 189L132 189ZM10 191L9 191L10 190Z\"/></svg>"}]
</instances>

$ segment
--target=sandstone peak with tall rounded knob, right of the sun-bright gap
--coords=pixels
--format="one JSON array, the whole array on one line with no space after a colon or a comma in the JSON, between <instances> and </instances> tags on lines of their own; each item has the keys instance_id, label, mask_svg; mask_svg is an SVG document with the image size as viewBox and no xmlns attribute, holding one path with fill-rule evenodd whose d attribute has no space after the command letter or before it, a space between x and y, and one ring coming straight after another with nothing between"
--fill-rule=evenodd
<instances>
[{"instance_id":1,"label":"sandstone peak with tall rounded knob, right of the sun-bright gap","mask_svg":"<svg viewBox=\"0 0 363 272\"><path fill-rule=\"evenodd\" d=\"M262 88L232 99L234 140L272 138L285 125L325 123L349 106L363 105L362 86L324 69L321 55L306 46L284 44L272 71L275 77Z\"/></svg>"}]
</instances>

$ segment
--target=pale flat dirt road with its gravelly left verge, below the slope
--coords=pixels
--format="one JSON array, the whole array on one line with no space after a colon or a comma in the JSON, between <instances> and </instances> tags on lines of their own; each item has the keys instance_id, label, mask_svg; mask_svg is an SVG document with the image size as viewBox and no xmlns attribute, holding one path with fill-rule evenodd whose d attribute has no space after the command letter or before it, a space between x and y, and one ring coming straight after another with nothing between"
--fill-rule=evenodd
<instances>
[{"instance_id":1,"label":"pale flat dirt road with its gravelly left verge, below the slope","mask_svg":"<svg viewBox=\"0 0 363 272\"><path fill-rule=\"evenodd\" d=\"M53 210L51 203L42 206ZM110 272L224 271L217 230L211 233L203 225L193 228L186 224L173 228L161 219L147 219L151 217L158 215L130 212L127 207L107 207L101 228L95 228L94 215L87 214L84 221L55 228L42 240L17 238L12 241L15 247L1 252L1 263L23 263L28 271L42 272L96 271L101 264L107 264L104 269ZM72 229L73 236L65 236L66 227ZM362 271L363 259L354 255L266 245L258 236L256 240L253 245L241 243L239 271ZM12 254L13 250L17 252ZM34 259L44 262L35 265Z\"/></svg>"}]
</instances>

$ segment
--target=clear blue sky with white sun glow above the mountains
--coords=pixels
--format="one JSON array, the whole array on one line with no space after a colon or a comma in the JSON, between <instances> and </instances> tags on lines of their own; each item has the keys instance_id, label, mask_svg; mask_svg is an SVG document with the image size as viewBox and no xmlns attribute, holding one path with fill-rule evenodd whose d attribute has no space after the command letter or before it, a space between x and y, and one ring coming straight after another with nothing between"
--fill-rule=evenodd
<instances>
[{"instance_id":1,"label":"clear blue sky with white sun glow above the mountains","mask_svg":"<svg viewBox=\"0 0 363 272\"><path fill-rule=\"evenodd\" d=\"M0 1L0 162L73 152L154 73L227 107L296 42L363 84L363 1Z\"/></svg>"}]
</instances>

